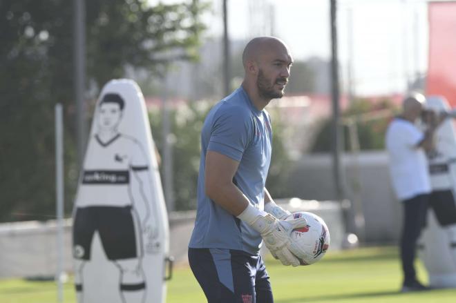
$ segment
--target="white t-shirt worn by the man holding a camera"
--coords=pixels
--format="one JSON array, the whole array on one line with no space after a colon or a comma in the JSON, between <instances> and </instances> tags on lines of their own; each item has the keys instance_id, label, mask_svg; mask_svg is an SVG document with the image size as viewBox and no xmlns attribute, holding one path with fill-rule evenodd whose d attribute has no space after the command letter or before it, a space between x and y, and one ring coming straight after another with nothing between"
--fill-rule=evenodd
<instances>
[{"instance_id":1,"label":"white t-shirt worn by the man holding a camera","mask_svg":"<svg viewBox=\"0 0 456 303\"><path fill-rule=\"evenodd\" d=\"M400 200L430 193L428 159L417 147L424 134L410 121L395 118L386 130L392 186Z\"/></svg>"}]
</instances>

